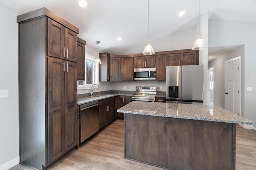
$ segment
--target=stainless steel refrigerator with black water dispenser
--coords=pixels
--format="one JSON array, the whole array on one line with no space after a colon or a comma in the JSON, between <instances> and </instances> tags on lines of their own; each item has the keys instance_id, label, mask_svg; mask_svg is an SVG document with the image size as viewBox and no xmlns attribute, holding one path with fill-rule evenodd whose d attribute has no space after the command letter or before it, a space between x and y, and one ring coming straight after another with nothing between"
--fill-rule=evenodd
<instances>
[{"instance_id":1,"label":"stainless steel refrigerator with black water dispenser","mask_svg":"<svg viewBox=\"0 0 256 170\"><path fill-rule=\"evenodd\" d=\"M166 67L166 102L203 104L204 65Z\"/></svg>"}]
</instances>

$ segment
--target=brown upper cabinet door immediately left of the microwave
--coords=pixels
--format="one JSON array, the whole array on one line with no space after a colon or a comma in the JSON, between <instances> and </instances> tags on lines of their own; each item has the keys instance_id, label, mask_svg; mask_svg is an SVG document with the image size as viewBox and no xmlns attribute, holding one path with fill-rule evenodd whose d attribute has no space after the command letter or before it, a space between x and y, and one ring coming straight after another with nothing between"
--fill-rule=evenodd
<instances>
[{"instance_id":1,"label":"brown upper cabinet door immediately left of the microwave","mask_svg":"<svg viewBox=\"0 0 256 170\"><path fill-rule=\"evenodd\" d=\"M133 81L133 57L121 59L121 81Z\"/></svg>"}]
</instances>

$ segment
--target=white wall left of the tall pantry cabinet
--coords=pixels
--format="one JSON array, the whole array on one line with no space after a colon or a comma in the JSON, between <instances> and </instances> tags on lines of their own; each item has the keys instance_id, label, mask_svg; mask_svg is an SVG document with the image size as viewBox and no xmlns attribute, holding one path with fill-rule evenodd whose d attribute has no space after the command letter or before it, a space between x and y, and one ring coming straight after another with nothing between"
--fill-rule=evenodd
<instances>
[{"instance_id":1,"label":"white wall left of the tall pantry cabinet","mask_svg":"<svg viewBox=\"0 0 256 170\"><path fill-rule=\"evenodd\" d=\"M20 162L17 15L18 12L0 3L0 90L9 90L9 98L0 99L0 170Z\"/></svg>"}]
</instances>

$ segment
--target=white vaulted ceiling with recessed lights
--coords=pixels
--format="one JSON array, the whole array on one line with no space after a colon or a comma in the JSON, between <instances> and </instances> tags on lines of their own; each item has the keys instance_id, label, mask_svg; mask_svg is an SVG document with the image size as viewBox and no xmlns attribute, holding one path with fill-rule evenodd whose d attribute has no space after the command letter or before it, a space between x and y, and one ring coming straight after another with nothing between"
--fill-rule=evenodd
<instances>
[{"instance_id":1,"label":"white vaulted ceiling with recessed lights","mask_svg":"<svg viewBox=\"0 0 256 170\"><path fill-rule=\"evenodd\" d=\"M100 51L122 54L148 41L148 0L0 0L24 14L45 7L79 28L79 37ZM150 41L197 24L199 0L150 0ZM186 10L183 17L178 13ZM210 19L256 22L256 0L201 0L201 13ZM116 38L122 36L118 42ZM229 48L230 49L230 48ZM209 51L211 51L209 49ZM216 50L212 50L216 51ZM222 49L223 52L223 49Z\"/></svg>"}]
</instances>

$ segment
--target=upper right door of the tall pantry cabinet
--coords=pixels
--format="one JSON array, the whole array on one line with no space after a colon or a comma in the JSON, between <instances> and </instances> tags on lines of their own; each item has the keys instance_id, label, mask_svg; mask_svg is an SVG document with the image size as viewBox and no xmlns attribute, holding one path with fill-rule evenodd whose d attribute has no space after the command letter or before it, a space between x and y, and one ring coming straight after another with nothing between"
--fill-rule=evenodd
<instances>
[{"instance_id":1,"label":"upper right door of the tall pantry cabinet","mask_svg":"<svg viewBox=\"0 0 256 170\"><path fill-rule=\"evenodd\" d=\"M77 34L65 28L65 59L76 62Z\"/></svg>"}]
</instances>

